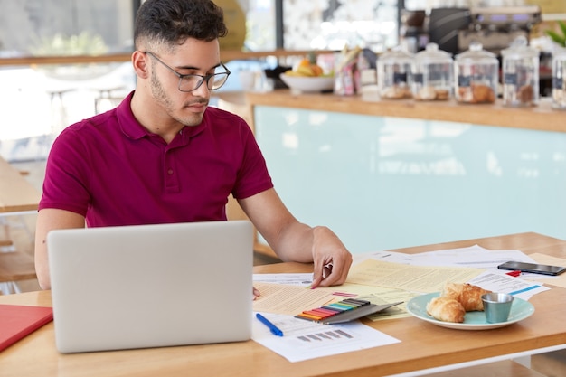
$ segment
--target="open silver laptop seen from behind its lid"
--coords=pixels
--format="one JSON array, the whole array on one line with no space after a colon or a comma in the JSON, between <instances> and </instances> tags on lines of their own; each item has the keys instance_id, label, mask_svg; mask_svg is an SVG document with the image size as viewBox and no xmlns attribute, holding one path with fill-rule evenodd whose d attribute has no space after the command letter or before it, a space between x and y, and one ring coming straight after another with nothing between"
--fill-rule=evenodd
<instances>
[{"instance_id":1,"label":"open silver laptop seen from behind its lid","mask_svg":"<svg viewBox=\"0 0 566 377\"><path fill-rule=\"evenodd\" d=\"M252 234L249 221L51 231L57 349L250 339Z\"/></svg>"}]
</instances>

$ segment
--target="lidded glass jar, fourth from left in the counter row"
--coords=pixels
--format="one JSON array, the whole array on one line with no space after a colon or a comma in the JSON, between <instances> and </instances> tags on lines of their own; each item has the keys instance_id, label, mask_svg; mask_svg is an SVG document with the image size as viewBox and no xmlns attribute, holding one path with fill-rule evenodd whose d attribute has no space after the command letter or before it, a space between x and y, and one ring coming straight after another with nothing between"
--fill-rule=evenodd
<instances>
[{"instance_id":1,"label":"lidded glass jar, fourth from left in the counter row","mask_svg":"<svg viewBox=\"0 0 566 377\"><path fill-rule=\"evenodd\" d=\"M524 36L517 37L503 56L503 104L524 107L539 103L539 54L528 46Z\"/></svg>"}]
</instances>

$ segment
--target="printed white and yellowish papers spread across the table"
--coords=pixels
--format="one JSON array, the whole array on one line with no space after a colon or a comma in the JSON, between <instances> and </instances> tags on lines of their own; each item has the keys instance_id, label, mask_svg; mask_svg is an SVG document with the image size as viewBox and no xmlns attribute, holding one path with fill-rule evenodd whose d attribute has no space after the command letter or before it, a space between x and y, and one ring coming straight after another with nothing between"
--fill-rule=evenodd
<instances>
[{"instance_id":1,"label":"printed white and yellowish papers spread across the table","mask_svg":"<svg viewBox=\"0 0 566 377\"><path fill-rule=\"evenodd\" d=\"M290 362L297 362L400 342L359 321L320 325L294 317L303 310L344 297L361 298L376 305L406 303L412 297L438 292L447 281L470 283L524 300L550 289L541 281L566 287L566 274L547 277L523 273L517 278L507 275L509 271L497 269L508 260L566 266L564 259L542 254L527 256L520 250L486 250L476 245L420 254L392 251L357 254L346 283L339 287L310 289L312 274L254 275L254 286L261 292L254 301L254 311L268 317L284 336L272 335L266 326L254 320L252 339ZM403 316L410 316L404 304L369 318L377 321Z\"/></svg>"}]
</instances>

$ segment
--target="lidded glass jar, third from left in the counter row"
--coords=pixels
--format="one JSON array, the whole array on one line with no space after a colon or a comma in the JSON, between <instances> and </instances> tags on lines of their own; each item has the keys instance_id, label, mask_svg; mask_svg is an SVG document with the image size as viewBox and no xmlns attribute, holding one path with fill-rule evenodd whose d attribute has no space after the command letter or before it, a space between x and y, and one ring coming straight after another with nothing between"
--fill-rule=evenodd
<instances>
[{"instance_id":1,"label":"lidded glass jar, third from left in the counter row","mask_svg":"<svg viewBox=\"0 0 566 377\"><path fill-rule=\"evenodd\" d=\"M469 50L456 55L456 100L462 103L494 103L499 84L499 61L481 43L470 43Z\"/></svg>"}]
</instances>

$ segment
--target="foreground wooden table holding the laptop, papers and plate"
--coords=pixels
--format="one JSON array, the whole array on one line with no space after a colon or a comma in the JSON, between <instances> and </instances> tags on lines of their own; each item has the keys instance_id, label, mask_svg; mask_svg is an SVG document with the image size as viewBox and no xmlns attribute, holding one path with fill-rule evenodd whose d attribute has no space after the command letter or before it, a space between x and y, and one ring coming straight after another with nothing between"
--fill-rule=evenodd
<instances>
[{"instance_id":1,"label":"foreground wooden table holding the laptop, papers and plate","mask_svg":"<svg viewBox=\"0 0 566 377\"><path fill-rule=\"evenodd\" d=\"M486 249L518 249L530 254L544 252L566 257L566 241L536 233L521 233L480 240L465 240L403 249L414 253L478 244ZM306 272L310 265L280 263L259 266L258 273ZM208 344L156 349L57 353L53 324L0 353L3 376L383 376L417 375L448 364L465 366L566 348L566 289L535 295L533 316L507 327L487 331L451 330L418 318L364 320L401 343L353 353L289 363L277 353L253 342ZM1 304L51 306L49 291L0 297ZM431 371L426 371L431 372ZM407 374L405 374L407 375Z\"/></svg>"}]
</instances>

